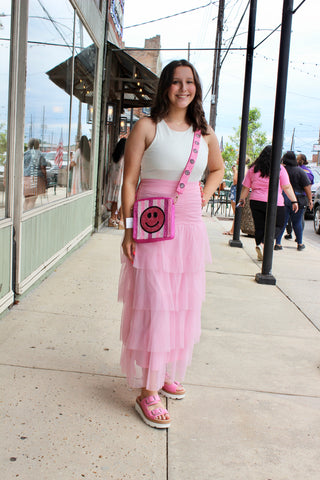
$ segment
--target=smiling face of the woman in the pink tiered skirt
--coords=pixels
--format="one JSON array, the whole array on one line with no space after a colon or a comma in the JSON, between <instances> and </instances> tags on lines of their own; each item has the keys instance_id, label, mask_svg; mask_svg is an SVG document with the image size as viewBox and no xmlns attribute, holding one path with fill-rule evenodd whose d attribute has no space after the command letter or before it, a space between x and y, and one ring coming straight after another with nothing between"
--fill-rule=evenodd
<instances>
[{"instance_id":1,"label":"smiling face of the woman in the pink tiered skirt","mask_svg":"<svg viewBox=\"0 0 320 480\"><path fill-rule=\"evenodd\" d=\"M173 74L172 84L168 90L168 99L172 106L187 108L196 94L196 85L190 67L177 67Z\"/></svg>"}]
</instances>

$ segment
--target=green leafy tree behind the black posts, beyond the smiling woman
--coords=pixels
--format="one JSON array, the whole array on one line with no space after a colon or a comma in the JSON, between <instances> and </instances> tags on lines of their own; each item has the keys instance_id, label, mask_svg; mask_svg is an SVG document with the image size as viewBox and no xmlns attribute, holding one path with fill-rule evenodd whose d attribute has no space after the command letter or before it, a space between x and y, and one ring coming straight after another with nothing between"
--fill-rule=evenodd
<instances>
[{"instance_id":1,"label":"green leafy tree behind the black posts, beyond the smiling woman","mask_svg":"<svg viewBox=\"0 0 320 480\"><path fill-rule=\"evenodd\" d=\"M252 108L249 111L248 122L248 137L247 137L247 152L246 154L254 161L260 154L261 150L267 145L267 135L261 132L261 123L259 122L261 113L258 108ZM230 137L232 144L239 152L240 147L240 133L241 133L241 117L239 118L240 125L235 130L235 134Z\"/></svg>"}]
</instances>

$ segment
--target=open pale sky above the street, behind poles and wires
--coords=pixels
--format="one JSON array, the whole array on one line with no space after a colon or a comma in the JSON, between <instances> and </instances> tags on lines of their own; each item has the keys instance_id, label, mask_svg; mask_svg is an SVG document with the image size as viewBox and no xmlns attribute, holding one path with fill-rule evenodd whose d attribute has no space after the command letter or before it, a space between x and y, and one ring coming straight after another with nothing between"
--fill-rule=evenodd
<instances>
[{"instance_id":1,"label":"open pale sky above the street, behind poles and wires","mask_svg":"<svg viewBox=\"0 0 320 480\"><path fill-rule=\"evenodd\" d=\"M294 0L294 9L301 3L302 0ZM187 49L188 42L191 49L214 47L218 0L162 0L152 2L152 8L150 4L150 0L125 0L123 40L127 47L141 48L145 38L160 35L162 49L175 49L161 52L163 66L171 60L187 58L187 50L176 49ZM247 4L248 0L225 1L223 47L229 46ZM206 7L190 13L129 28L203 5ZM250 108L259 108L261 129L270 142L273 134L281 27L269 38L266 37L281 24L282 7L282 0L257 0ZM320 129L319 16L319 0L305 0L293 15L285 109L283 148L290 150L292 145L297 153L306 154L309 160L314 153L313 145L318 143ZM249 8L232 44L232 47L243 50L229 51L221 67L216 133L219 140L223 137L224 144L230 141L229 137L240 125L248 20ZM258 46L262 40L263 43ZM222 52L221 58L224 58L224 55ZM190 52L190 61L202 81L204 110L208 120L213 58L214 52L210 50Z\"/></svg>"}]
</instances>

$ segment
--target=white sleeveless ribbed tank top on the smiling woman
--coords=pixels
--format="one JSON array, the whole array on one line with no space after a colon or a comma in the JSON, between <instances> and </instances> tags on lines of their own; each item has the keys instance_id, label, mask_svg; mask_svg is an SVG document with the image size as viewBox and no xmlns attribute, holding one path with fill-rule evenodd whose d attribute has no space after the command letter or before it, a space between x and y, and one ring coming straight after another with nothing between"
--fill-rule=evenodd
<instances>
[{"instance_id":1,"label":"white sleeveless ribbed tank top on the smiling woman","mask_svg":"<svg viewBox=\"0 0 320 480\"><path fill-rule=\"evenodd\" d=\"M141 179L175 180L181 177L189 158L193 140L192 127L184 132L172 130L164 120L156 127L156 135L144 152L141 162ZM207 166L208 145L201 137L197 161L189 182L198 182Z\"/></svg>"}]
</instances>

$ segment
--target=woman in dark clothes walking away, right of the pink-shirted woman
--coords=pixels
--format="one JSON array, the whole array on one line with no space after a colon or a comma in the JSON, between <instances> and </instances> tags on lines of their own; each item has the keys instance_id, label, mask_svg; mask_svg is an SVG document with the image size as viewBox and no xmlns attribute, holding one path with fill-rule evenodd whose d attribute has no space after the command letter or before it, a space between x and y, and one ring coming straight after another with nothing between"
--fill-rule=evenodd
<instances>
[{"instance_id":1,"label":"woman in dark clothes walking away, right of the pink-shirted woman","mask_svg":"<svg viewBox=\"0 0 320 480\"><path fill-rule=\"evenodd\" d=\"M292 228L296 234L297 250L301 251L305 248L305 245L302 243L303 235L303 217L304 212L309 205L310 210L312 210L312 194L311 194L311 182L306 174L298 166L298 162L294 152L287 152L282 157L282 163L285 166L286 171L288 172L290 183L298 199L298 210L293 211L290 199L286 195L284 196L285 204L285 218L284 225L281 231L276 237L276 244L274 246L275 250L282 250L281 240L282 235L285 231L288 220L291 220Z\"/></svg>"}]
</instances>

